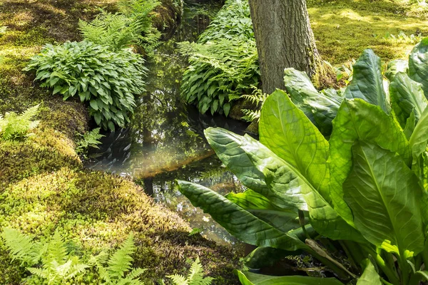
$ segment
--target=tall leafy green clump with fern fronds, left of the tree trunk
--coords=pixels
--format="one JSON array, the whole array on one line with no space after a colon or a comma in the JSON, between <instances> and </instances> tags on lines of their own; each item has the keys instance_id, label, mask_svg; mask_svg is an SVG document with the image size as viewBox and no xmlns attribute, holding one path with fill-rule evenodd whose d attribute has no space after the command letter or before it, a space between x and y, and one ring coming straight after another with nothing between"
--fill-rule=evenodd
<instances>
[{"instance_id":1,"label":"tall leafy green clump with fern fronds, left of the tree trunk","mask_svg":"<svg viewBox=\"0 0 428 285\"><path fill-rule=\"evenodd\" d=\"M260 81L250 8L247 1L226 1L198 43L180 43L188 56L181 95L200 113L228 115L233 100Z\"/></svg>"}]
</instances>

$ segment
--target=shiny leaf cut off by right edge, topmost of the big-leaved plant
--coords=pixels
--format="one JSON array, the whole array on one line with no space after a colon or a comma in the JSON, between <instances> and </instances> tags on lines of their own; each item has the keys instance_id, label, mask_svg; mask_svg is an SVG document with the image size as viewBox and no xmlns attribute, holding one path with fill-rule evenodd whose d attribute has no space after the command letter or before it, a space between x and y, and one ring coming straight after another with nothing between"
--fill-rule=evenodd
<instances>
[{"instance_id":1,"label":"shiny leaf cut off by right edge, topmost of the big-leaved plant","mask_svg":"<svg viewBox=\"0 0 428 285\"><path fill-rule=\"evenodd\" d=\"M424 38L412 49L409 56L409 76L422 84L428 97L428 38Z\"/></svg>"}]
</instances>

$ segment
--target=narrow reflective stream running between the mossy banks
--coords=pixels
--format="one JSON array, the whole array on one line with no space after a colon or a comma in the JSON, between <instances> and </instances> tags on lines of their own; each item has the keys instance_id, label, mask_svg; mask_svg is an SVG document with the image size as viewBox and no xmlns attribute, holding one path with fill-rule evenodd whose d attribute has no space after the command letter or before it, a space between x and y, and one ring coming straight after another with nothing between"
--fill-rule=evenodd
<instances>
[{"instance_id":1,"label":"narrow reflective stream running between the mossy banks","mask_svg":"<svg viewBox=\"0 0 428 285\"><path fill-rule=\"evenodd\" d=\"M187 3L187 2L186 2ZM206 142L203 130L220 127L243 134L248 124L223 115L201 115L180 100L180 80L187 65L175 43L196 41L219 4L187 3L182 23L172 38L158 46L147 67L147 93L138 99L128 128L104 137L89 154L87 167L131 177L156 202L178 212L193 229L220 244L239 242L209 214L193 207L176 189L174 180L198 183L222 195L242 192L243 185L225 170Z\"/></svg>"}]
</instances>

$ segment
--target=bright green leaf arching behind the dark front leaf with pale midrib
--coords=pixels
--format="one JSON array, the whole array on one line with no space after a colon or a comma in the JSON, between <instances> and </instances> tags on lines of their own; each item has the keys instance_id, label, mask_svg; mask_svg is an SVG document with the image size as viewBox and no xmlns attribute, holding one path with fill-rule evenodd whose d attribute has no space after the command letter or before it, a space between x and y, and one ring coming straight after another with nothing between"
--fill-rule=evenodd
<instances>
[{"instance_id":1,"label":"bright green leaf arching behind the dark front leaf with pale midrib","mask_svg":"<svg viewBox=\"0 0 428 285\"><path fill-rule=\"evenodd\" d=\"M342 184L352 167L352 145L357 140L373 142L386 150L397 152L410 164L409 142L398 123L378 106L361 99L343 100L333 120L330 137L330 197L339 214L352 222L352 213L343 200Z\"/></svg>"}]
</instances>

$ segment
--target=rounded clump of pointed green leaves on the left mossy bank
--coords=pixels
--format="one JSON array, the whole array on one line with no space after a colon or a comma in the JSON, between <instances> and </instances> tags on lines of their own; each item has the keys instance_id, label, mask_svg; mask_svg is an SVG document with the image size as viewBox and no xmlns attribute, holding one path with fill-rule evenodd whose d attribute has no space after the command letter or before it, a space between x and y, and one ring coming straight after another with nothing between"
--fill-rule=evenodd
<instances>
[{"instance_id":1,"label":"rounded clump of pointed green leaves on the left mossy bank","mask_svg":"<svg viewBox=\"0 0 428 285\"><path fill-rule=\"evenodd\" d=\"M41 87L54 88L63 99L78 96L88 102L97 125L124 127L135 106L134 95L144 91L143 58L128 49L111 51L89 41L46 45L31 59L26 71L35 70Z\"/></svg>"}]
</instances>

